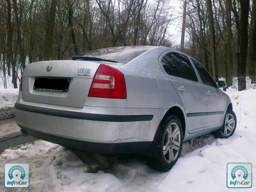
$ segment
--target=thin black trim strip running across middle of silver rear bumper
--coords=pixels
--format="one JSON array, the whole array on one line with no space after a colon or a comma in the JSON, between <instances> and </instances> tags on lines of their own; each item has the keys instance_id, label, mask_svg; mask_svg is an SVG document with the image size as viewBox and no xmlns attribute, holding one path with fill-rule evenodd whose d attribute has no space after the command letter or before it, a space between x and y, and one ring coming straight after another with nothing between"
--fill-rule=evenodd
<instances>
[{"instance_id":1,"label":"thin black trim strip running across middle of silver rear bumper","mask_svg":"<svg viewBox=\"0 0 256 192\"><path fill-rule=\"evenodd\" d=\"M34 107L29 105L23 105L20 103L15 103L15 109L22 111L29 111L32 113L39 113L44 115L72 118L72 119L83 119L91 121L108 121L108 122L129 122L129 121L151 121L153 115L100 115L91 113L80 113L74 111L64 111L58 109L49 109Z\"/></svg>"}]
</instances>

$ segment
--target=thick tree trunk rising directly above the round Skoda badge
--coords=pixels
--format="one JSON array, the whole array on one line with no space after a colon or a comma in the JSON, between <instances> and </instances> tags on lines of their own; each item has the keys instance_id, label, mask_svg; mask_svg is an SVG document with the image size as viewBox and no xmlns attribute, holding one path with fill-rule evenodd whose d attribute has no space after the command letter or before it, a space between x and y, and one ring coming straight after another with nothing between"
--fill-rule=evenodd
<instances>
[{"instance_id":1,"label":"thick tree trunk rising directly above the round Skoda badge","mask_svg":"<svg viewBox=\"0 0 256 192\"><path fill-rule=\"evenodd\" d=\"M57 4L57 0L52 0L50 12L47 19L47 26L45 30L44 60L51 60L52 35L53 35L53 28L54 28L54 22L55 22L56 4Z\"/></svg>"}]
</instances>

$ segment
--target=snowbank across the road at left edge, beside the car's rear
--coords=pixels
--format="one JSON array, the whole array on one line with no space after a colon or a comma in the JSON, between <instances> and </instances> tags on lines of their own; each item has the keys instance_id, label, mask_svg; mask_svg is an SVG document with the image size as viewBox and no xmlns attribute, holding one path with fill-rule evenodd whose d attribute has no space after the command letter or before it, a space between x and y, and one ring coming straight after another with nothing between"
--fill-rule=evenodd
<instances>
[{"instance_id":1,"label":"snowbank across the road at left edge, beside the car's rear","mask_svg":"<svg viewBox=\"0 0 256 192\"><path fill-rule=\"evenodd\" d=\"M0 89L0 119L14 116L14 104L19 89Z\"/></svg>"}]
</instances>

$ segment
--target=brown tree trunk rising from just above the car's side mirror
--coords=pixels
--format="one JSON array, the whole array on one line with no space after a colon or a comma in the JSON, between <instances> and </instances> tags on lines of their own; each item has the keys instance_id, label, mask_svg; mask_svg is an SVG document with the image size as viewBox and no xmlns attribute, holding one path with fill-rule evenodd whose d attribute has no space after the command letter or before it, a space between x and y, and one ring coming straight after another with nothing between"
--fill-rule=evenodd
<instances>
[{"instance_id":1,"label":"brown tree trunk rising from just above the car's side mirror","mask_svg":"<svg viewBox=\"0 0 256 192\"><path fill-rule=\"evenodd\" d=\"M218 80L218 67L216 63L216 42L215 42L215 28L213 23L213 13L211 0L207 0L207 9L209 17L209 29L210 29L210 42L211 42L211 71L212 77L215 81Z\"/></svg>"}]
</instances>

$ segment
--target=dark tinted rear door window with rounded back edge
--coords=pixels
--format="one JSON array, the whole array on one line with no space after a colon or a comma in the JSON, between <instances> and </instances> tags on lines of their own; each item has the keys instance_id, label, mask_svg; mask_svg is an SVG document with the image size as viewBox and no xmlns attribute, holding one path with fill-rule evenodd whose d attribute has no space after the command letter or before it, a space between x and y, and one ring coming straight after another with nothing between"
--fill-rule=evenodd
<instances>
[{"instance_id":1,"label":"dark tinted rear door window with rounded back edge","mask_svg":"<svg viewBox=\"0 0 256 192\"><path fill-rule=\"evenodd\" d=\"M167 53L161 60L167 74L184 79L197 81L197 77L190 61L180 53Z\"/></svg>"}]
</instances>

